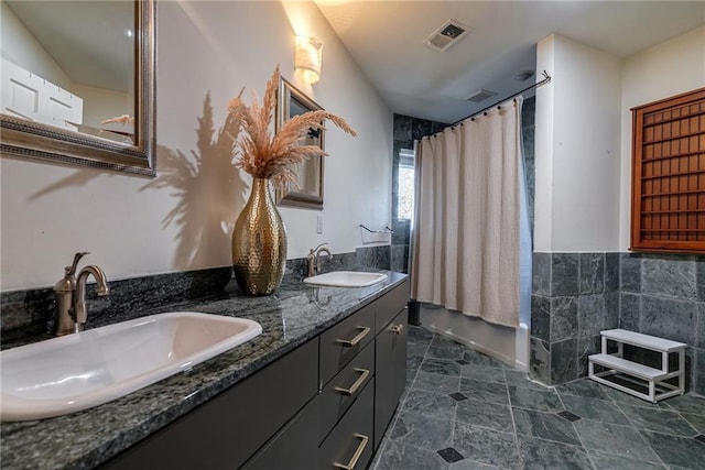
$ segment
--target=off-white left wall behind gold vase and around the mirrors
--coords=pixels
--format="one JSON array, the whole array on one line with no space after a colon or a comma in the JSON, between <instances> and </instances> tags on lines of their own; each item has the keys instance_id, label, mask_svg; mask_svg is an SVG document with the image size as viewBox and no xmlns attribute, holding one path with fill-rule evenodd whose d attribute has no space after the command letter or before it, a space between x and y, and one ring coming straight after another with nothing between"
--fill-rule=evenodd
<instances>
[{"instance_id":1,"label":"off-white left wall behind gold vase and around the mirrors","mask_svg":"<svg viewBox=\"0 0 705 470\"><path fill-rule=\"evenodd\" d=\"M290 18L325 44L313 89L293 74ZM53 285L82 250L111 280L230 264L232 222L249 178L208 145L208 130L223 125L242 87L261 97L276 64L359 134L326 134L324 234L316 234L321 212L282 210L289 258L321 241L333 252L352 251L359 223L389 223L392 113L313 3L159 2L158 34L158 179L3 156L2 291ZM213 121L203 120L199 135L207 96ZM183 162L195 162L193 153L200 163L192 174Z\"/></svg>"}]
</instances>

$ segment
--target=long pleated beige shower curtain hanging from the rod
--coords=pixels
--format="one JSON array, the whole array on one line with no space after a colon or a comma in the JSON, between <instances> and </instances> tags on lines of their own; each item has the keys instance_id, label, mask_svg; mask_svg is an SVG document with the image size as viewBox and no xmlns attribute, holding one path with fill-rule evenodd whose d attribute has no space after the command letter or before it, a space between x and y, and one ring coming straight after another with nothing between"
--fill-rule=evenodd
<instances>
[{"instance_id":1,"label":"long pleated beige shower curtain hanging from the rod","mask_svg":"<svg viewBox=\"0 0 705 470\"><path fill-rule=\"evenodd\" d=\"M411 294L519 326L521 97L422 139Z\"/></svg>"}]
</instances>

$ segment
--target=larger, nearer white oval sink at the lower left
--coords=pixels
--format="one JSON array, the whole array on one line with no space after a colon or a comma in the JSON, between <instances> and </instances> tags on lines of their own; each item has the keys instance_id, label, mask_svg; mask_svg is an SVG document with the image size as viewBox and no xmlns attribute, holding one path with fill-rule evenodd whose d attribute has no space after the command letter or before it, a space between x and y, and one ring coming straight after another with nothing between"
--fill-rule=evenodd
<instances>
[{"instance_id":1,"label":"larger, nearer white oval sink at the lower left","mask_svg":"<svg viewBox=\"0 0 705 470\"><path fill-rule=\"evenodd\" d=\"M151 315L0 352L0 419L41 419L100 405L261 335L245 318Z\"/></svg>"}]
</instances>

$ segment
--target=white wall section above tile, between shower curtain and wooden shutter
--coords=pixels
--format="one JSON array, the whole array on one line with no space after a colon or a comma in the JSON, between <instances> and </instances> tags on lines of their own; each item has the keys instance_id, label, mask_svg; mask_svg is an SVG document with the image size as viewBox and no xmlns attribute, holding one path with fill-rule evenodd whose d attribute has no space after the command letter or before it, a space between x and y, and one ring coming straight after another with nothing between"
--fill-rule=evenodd
<instances>
[{"instance_id":1,"label":"white wall section above tile, between shower curtain and wooden shutter","mask_svg":"<svg viewBox=\"0 0 705 470\"><path fill-rule=\"evenodd\" d=\"M538 45L536 251L615 251L621 61L567 37Z\"/></svg>"}]
</instances>

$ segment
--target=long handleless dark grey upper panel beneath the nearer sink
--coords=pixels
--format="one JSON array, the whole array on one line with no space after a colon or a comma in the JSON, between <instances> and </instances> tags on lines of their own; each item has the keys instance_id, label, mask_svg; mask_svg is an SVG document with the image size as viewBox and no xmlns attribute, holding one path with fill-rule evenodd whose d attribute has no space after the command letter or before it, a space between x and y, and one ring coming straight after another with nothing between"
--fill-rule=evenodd
<instances>
[{"instance_id":1,"label":"long handleless dark grey upper panel beneath the nearer sink","mask_svg":"<svg viewBox=\"0 0 705 470\"><path fill-rule=\"evenodd\" d=\"M317 353L317 339L300 346L130 447L102 468L240 467L316 395Z\"/></svg>"}]
</instances>

